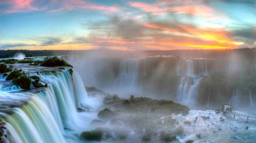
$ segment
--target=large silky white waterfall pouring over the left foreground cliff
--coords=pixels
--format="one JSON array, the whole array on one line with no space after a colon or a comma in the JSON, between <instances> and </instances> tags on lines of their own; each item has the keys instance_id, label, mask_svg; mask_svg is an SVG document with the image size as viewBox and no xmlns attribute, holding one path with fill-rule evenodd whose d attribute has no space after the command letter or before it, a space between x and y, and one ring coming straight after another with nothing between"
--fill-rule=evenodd
<instances>
[{"instance_id":1,"label":"large silky white waterfall pouring over the left foreground cliff","mask_svg":"<svg viewBox=\"0 0 256 143\"><path fill-rule=\"evenodd\" d=\"M7 123L8 136L4 140L11 143L72 142L76 137L67 132L79 133L87 125L86 115L78 112L77 107L87 109L90 106L80 76L75 70L73 75L68 70L35 75L49 87L36 93L1 91L0 102L6 105L1 104L4 109L0 110L0 119ZM8 105L8 101L20 105Z\"/></svg>"}]
</instances>

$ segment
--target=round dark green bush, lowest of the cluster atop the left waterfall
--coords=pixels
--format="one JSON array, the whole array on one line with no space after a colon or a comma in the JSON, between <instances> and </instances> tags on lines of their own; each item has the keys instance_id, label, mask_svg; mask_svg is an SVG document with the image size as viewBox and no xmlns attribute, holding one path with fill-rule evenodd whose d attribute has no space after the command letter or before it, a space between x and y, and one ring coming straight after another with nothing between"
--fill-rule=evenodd
<instances>
[{"instance_id":1,"label":"round dark green bush, lowest of the cluster atop the left waterfall","mask_svg":"<svg viewBox=\"0 0 256 143\"><path fill-rule=\"evenodd\" d=\"M22 74L20 77L13 79L12 82L22 89L29 89L31 85L31 79L27 74Z\"/></svg>"}]
</instances>

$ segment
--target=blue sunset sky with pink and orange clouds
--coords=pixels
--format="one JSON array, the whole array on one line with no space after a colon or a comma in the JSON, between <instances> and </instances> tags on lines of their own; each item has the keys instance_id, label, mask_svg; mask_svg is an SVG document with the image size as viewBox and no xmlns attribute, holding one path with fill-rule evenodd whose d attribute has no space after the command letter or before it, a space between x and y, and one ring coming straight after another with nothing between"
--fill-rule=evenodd
<instances>
[{"instance_id":1,"label":"blue sunset sky with pink and orange clouds","mask_svg":"<svg viewBox=\"0 0 256 143\"><path fill-rule=\"evenodd\" d=\"M0 49L256 47L255 0L0 0Z\"/></svg>"}]
</instances>

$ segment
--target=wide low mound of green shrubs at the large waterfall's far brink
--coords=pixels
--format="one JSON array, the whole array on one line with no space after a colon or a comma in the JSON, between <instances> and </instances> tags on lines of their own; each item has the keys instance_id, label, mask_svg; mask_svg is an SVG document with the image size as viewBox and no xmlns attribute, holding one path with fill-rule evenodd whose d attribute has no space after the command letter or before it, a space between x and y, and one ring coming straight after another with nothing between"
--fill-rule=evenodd
<instances>
[{"instance_id":1,"label":"wide low mound of green shrubs at the large waterfall's far brink","mask_svg":"<svg viewBox=\"0 0 256 143\"><path fill-rule=\"evenodd\" d=\"M42 62L41 66L45 66L45 67L68 66L73 68L73 66L65 62L63 59L59 59L57 56L54 56L53 58L46 58L46 60Z\"/></svg>"}]
</instances>

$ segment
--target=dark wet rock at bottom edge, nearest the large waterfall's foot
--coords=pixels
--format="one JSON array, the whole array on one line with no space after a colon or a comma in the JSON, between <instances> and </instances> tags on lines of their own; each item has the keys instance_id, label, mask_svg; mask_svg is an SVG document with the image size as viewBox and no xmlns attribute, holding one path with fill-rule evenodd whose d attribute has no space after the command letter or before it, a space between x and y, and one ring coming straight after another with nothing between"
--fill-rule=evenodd
<instances>
[{"instance_id":1,"label":"dark wet rock at bottom edge, nearest the large waterfall's foot","mask_svg":"<svg viewBox=\"0 0 256 143\"><path fill-rule=\"evenodd\" d=\"M92 130L92 131L82 132L80 135L80 139L101 141L102 134L103 134L102 128L96 128L95 130Z\"/></svg>"}]
</instances>

